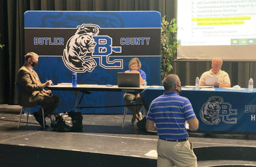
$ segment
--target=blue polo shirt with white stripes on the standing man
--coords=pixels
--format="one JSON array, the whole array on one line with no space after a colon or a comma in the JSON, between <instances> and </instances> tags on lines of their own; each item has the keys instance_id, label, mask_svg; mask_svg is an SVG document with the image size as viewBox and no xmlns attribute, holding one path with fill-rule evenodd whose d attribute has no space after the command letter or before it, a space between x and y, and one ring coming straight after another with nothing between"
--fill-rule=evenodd
<instances>
[{"instance_id":1,"label":"blue polo shirt with white stripes on the standing man","mask_svg":"<svg viewBox=\"0 0 256 167\"><path fill-rule=\"evenodd\" d=\"M156 123L157 135L176 140L188 137L185 121L196 117L190 101L176 92L164 92L152 101L147 119Z\"/></svg>"}]
</instances>

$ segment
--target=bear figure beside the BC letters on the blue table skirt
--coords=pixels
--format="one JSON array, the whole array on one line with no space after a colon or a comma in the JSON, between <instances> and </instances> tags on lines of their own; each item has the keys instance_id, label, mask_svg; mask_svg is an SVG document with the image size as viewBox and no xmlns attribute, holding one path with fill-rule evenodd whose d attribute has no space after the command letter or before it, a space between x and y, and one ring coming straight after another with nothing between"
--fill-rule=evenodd
<instances>
[{"instance_id":1,"label":"bear figure beside the BC letters on the blue table skirt","mask_svg":"<svg viewBox=\"0 0 256 167\"><path fill-rule=\"evenodd\" d=\"M217 117L217 114L220 111L219 104L223 102L222 97L212 96L206 103L203 104L203 107L200 110L201 120L206 124L219 124L220 118Z\"/></svg>"}]
</instances>

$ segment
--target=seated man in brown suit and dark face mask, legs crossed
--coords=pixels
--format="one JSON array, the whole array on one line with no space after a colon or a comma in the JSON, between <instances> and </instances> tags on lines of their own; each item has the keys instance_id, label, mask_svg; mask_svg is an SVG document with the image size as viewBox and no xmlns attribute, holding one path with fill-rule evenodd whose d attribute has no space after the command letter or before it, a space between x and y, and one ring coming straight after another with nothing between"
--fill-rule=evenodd
<instances>
[{"instance_id":1,"label":"seated man in brown suit and dark face mask, legs crossed","mask_svg":"<svg viewBox=\"0 0 256 167\"><path fill-rule=\"evenodd\" d=\"M18 105L23 107L35 107L37 103L43 105L44 116L50 117L57 106L60 98L52 95L50 90L43 89L50 86L49 80L41 83L36 71L33 68L37 65L38 55L33 52L26 54L25 64L18 71ZM42 109L33 113L36 121L43 126ZM45 122L45 121L44 121Z\"/></svg>"}]
</instances>

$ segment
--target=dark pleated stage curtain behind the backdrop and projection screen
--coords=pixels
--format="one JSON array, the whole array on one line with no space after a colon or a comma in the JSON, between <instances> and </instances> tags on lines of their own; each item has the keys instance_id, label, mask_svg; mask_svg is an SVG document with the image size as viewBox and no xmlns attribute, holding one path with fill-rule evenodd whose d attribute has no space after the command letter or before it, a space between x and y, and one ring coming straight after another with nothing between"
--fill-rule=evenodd
<instances>
[{"instance_id":1,"label":"dark pleated stage curtain behind the backdrop and projection screen","mask_svg":"<svg viewBox=\"0 0 256 167\"><path fill-rule=\"evenodd\" d=\"M160 11L168 21L175 17L174 0L0 0L0 103L17 103L14 83L24 63L25 11ZM218 55L216 55L218 56ZM242 56L242 55L241 55ZM194 85L196 77L210 70L210 62L174 62L171 71L182 85ZM255 62L224 62L222 69L231 85L248 86L249 77L256 78Z\"/></svg>"}]
</instances>

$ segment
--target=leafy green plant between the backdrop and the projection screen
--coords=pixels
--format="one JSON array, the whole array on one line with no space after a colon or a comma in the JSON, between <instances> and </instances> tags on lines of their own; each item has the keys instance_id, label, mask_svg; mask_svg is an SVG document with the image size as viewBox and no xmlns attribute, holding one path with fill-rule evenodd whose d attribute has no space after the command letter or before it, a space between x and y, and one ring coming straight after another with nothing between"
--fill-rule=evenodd
<instances>
[{"instance_id":1,"label":"leafy green plant between the backdrop and the projection screen","mask_svg":"<svg viewBox=\"0 0 256 167\"><path fill-rule=\"evenodd\" d=\"M176 19L173 18L171 22L162 18L161 23L161 81L173 68L171 63L174 60L174 54L177 52L177 47L180 44L175 38L177 32Z\"/></svg>"}]
</instances>

